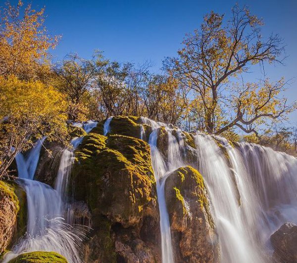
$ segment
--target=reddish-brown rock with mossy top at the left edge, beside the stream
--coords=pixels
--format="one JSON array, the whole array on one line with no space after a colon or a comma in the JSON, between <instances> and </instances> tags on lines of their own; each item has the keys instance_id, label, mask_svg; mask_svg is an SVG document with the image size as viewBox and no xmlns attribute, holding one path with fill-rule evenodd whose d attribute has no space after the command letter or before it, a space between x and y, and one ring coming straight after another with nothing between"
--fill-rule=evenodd
<instances>
[{"instance_id":1,"label":"reddish-brown rock with mossy top at the left edge, beside the stream","mask_svg":"<svg viewBox=\"0 0 297 263\"><path fill-rule=\"evenodd\" d=\"M26 231L26 193L14 181L0 180L0 254Z\"/></svg>"}]
</instances>

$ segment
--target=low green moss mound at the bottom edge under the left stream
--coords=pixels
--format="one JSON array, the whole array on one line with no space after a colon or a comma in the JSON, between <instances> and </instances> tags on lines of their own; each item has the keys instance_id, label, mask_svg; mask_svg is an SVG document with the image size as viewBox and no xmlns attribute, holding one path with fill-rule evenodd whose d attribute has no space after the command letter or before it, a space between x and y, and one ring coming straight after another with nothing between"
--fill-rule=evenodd
<instances>
[{"instance_id":1,"label":"low green moss mound at the bottom edge under the left stream","mask_svg":"<svg viewBox=\"0 0 297 263\"><path fill-rule=\"evenodd\" d=\"M35 251L21 254L8 263L67 263L67 260L56 252Z\"/></svg>"}]
</instances>

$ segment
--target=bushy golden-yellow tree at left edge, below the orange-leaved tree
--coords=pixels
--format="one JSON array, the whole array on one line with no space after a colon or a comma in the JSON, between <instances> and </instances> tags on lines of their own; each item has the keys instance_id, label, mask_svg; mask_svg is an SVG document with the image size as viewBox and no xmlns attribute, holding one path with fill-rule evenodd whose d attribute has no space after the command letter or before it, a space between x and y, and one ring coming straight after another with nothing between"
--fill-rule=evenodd
<instances>
[{"instance_id":1,"label":"bushy golden-yellow tree at left edge, below the orange-leaved tree","mask_svg":"<svg viewBox=\"0 0 297 263\"><path fill-rule=\"evenodd\" d=\"M47 136L65 142L65 111L62 94L51 86L0 77L0 176L35 139Z\"/></svg>"}]
</instances>

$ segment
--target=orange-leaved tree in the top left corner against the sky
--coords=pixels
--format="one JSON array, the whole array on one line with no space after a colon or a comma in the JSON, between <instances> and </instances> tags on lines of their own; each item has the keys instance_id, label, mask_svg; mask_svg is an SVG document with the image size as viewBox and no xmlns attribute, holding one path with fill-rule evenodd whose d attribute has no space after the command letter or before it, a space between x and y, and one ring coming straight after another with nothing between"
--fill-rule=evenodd
<instances>
[{"instance_id":1,"label":"orange-leaved tree in the top left corner against the sky","mask_svg":"<svg viewBox=\"0 0 297 263\"><path fill-rule=\"evenodd\" d=\"M44 26L44 8L36 11L31 4L22 10L9 3L0 13L0 75L19 79L44 79L50 74L48 50L54 48L58 36L49 36Z\"/></svg>"}]
</instances>

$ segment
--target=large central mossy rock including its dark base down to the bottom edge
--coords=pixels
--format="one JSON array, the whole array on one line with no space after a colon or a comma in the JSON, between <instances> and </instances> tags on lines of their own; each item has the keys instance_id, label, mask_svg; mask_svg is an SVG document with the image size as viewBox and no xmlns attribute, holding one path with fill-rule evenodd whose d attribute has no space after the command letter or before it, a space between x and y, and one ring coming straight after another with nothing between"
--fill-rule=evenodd
<instances>
[{"instance_id":1,"label":"large central mossy rock including its dark base down to the bottom edge","mask_svg":"<svg viewBox=\"0 0 297 263\"><path fill-rule=\"evenodd\" d=\"M157 213L149 212L157 211L149 145L125 135L106 137L93 129L75 155L75 198L85 201L92 214L85 262L116 262L120 251L115 242L121 240L134 251L131 244L140 240L143 218L150 215L157 221ZM123 234L125 228L132 229L131 235Z\"/></svg>"}]
</instances>

